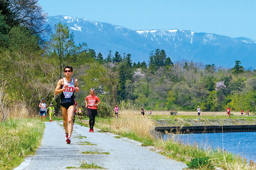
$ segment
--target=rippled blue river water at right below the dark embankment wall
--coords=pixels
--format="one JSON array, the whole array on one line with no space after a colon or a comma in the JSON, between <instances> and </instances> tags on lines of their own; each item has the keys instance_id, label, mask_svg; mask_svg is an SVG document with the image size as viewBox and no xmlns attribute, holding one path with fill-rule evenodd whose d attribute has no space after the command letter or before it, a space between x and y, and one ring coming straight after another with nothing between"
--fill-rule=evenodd
<instances>
[{"instance_id":1,"label":"rippled blue river water at right below the dark embankment wall","mask_svg":"<svg viewBox=\"0 0 256 170\"><path fill-rule=\"evenodd\" d=\"M221 148L228 152L239 154L243 158L256 160L256 132L229 132L229 133L195 133L174 134L185 144L198 142L204 148ZM169 135L164 135L166 140Z\"/></svg>"}]
</instances>

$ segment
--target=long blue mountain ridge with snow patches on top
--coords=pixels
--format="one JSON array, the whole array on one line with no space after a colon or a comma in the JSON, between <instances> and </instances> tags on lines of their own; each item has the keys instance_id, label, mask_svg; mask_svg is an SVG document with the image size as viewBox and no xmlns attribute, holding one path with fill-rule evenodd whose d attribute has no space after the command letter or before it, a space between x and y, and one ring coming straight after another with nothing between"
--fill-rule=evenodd
<instances>
[{"instance_id":1,"label":"long blue mountain ridge with snow patches on top","mask_svg":"<svg viewBox=\"0 0 256 170\"><path fill-rule=\"evenodd\" d=\"M131 54L133 62L148 62L150 52L159 48L165 50L173 62L187 59L231 68L236 60L240 60L244 68L256 68L256 41L244 37L179 29L134 31L69 16L48 17L48 22L52 28L59 22L67 24L76 43L86 42L96 55L101 52L103 57L107 57L111 50L113 55L115 51L121 55Z\"/></svg>"}]
</instances>

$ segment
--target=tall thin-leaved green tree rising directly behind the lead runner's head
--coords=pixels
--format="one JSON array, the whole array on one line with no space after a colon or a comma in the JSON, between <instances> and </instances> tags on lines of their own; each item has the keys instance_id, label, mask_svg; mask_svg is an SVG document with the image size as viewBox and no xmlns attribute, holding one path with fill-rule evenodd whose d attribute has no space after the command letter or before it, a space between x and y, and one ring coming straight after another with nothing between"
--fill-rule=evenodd
<instances>
[{"instance_id":1,"label":"tall thin-leaved green tree rising directly behind the lead runner's head","mask_svg":"<svg viewBox=\"0 0 256 170\"><path fill-rule=\"evenodd\" d=\"M61 73L65 65L70 64L79 52L84 51L87 44L83 42L76 46L74 35L73 33L70 34L67 24L58 23L54 28L55 32L51 34L49 43L47 43L48 54L50 58L54 59L52 63L55 67L58 67L57 74L61 79Z\"/></svg>"}]
</instances>

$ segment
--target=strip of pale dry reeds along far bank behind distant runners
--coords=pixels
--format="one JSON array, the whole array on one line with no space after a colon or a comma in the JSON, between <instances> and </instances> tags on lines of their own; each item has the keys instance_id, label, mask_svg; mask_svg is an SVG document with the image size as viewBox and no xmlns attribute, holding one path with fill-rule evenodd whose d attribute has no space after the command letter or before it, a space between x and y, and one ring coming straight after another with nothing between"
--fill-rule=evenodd
<instances>
[{"instance_id":1,"label":"strip of pale dry reeds along far bank behind distant runners","mask_svg":"<svg viewBox=\"0 0 256 170\"><path fill-rule=\"evenodd\" d=\"M231 111L231 114L241 116L241 112L232 112ZM170 115L170 111L152 111L152 115ZM178 111L177 115L197 116L198 113L196 111ZM223 115L226 116L226 112L201 112L201 115L203 115L203 116L223 116ZM245 116L245 112L244 112L244 116Z\"/></svg>"}]
</instances>

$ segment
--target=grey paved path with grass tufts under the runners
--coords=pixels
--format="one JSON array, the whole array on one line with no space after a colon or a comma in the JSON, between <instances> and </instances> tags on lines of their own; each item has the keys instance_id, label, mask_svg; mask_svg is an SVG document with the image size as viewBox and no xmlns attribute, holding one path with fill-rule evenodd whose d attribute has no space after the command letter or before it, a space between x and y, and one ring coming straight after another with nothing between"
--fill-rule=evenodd
<instances>
[{"instance_id":1,"label":"grey paved path with grass tufts under the runners","mask_svg":"<svg viewBox=\"0 0 256 170\"><path fill-rule=\"evenodd\" d=\"M66 167L80 169L82 161L108 170L182 170L187 167L182 162L167 159L150 150L150 147L141 146L140 142L127 138L116 139L112 133L99 133L96 130L90 133L88 127L76 124L71 144L67 144L62 124L63 122L45 122L41 146L30 158L31 161L26 161L28 166L24 170L67 170ZM109 152L109 155L82 154L85 151ZM22 169L20 166L20 170Z\"/></svg>"}]
</instances>

